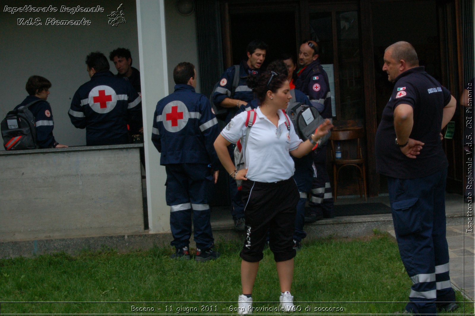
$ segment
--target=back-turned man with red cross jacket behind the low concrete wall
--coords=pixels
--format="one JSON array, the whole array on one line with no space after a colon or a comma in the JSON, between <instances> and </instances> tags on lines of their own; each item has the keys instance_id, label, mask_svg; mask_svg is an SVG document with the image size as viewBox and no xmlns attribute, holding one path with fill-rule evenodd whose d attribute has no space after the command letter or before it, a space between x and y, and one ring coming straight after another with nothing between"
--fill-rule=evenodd
<instances>
[{"instance_id":1,"label":"back-turned man with red cross jacket behind the low concrete wall","mask_svg":"<svg viewBox=\"0 0 475 316\"><path fill-rule=\"evenodd\" d=\"M142 126L142 99L128 81L114 77L104 54L90 53L86 65L91 80L73 96L71 123L86 129L88 146L128 144L127 124Z\"/></svg>"}]
</instances>

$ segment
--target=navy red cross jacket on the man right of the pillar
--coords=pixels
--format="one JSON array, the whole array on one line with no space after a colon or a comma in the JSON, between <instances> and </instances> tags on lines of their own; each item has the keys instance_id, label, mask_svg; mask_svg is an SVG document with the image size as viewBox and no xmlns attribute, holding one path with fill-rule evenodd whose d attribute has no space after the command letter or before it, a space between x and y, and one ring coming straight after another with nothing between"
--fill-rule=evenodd
<instances>
[{"instance_id":1,"label":"navy red cross jacket on the man right of the pillar","mask_svg":"<svg viewBox=\"0 0 475 316\"><path fill-rule=\"evenodd\" d=\"M161 165L211 163L218 170L213 144L219 132L208 98L190 85L175 85L175 92L157 103L152 142L161 153Z\"/></svg>"}]
</instances>

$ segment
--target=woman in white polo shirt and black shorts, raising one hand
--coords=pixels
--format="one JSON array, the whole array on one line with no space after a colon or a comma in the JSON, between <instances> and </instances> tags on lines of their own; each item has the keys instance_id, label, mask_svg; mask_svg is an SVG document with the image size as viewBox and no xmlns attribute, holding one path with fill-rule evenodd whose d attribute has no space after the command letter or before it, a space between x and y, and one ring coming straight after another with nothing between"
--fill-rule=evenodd
<instances>
[{"instance_id":1,"label":"woman in white polo shirt and black shorts, raising one hand","mask_svg":"<svg viewBox=\"0 0 475 316\"><path fill-rule=\"evenodd\" d=\"M247 236L240 254L243 294L238 297L238 314L252 313L251 294L259 261L263 258L267 231L282 293L280 306L285 311L295 311L290 287L294 276L293 234L299 192L292 178L294 161L289 153L295 157L309 153L333 125L326 120L312 135L311 141L302 142L294 127L287 128L285 124L288 120L284 111L292 97L286 76L266 71L259 78L251 75L247 86L253 88L260 106L255 110L256 121L247 140L246 169L235 170L227 146L246 135L247 112L236 115L214 143L219 160L229 175L243 180ZM244 141L241 144L244 146Z\"/></svg>"}]
</instances>

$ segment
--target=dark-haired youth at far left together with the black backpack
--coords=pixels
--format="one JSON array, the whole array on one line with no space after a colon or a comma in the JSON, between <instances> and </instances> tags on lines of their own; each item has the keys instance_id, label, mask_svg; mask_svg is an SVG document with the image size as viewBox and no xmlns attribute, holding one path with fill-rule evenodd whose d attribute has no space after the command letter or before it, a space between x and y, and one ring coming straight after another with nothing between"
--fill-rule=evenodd
<instances>
[{"instance_id":1,"label":"dark-haired youth at far left together with the black backpack","mask_svg":"<svg viewBox=\"0 0 475 316\"><path fill-rule=\"evenodd\" d=\"M6 124L2 123L2 136L4 138L4 146L6 150L14 149L34 149L34 148L64 148L66 145L59 144L53 136L53 113L51 106L46 101L49 95L49 88L51 82L45 77L31 76L28 78L26 84L26 90L28 95L22 103L15 106L15 109L7 115L5 119ZM30 113L28 113L26 110ZM20 112L26 115L31 114L34 121L34 126L28 128L29 135L11 135L8 137L8 132L13 131L15 128L19 128L17 117L20 116ZM17 113L15 115L15 113ZM5 125L5 129L4 129ZM35 135L36 134L36 135ZM32 141L31 148L22 147L22 138L29 138ZM8 139L7 139L8 138Z\"/></svg>"}]
</instances>

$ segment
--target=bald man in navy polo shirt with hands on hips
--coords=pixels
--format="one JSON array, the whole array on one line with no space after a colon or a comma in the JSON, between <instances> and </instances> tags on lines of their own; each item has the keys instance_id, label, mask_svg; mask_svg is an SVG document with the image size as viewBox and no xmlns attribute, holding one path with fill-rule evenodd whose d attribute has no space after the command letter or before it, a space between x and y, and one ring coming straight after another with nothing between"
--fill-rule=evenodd
<instances>
[{"instance_id":1,"label":"bald man in navy polo shirt with hands on hips","mask_svg":"<svg viewBox=\"0 0 475 316\"><path fill-rule=\"evenodd\" d=\"M386 48L383 70L396 84L376 133L376 171L388 177L399 253L413 282L404 313L453 311L458 306L449 277L448 162L441 130L454 115L456 100L419 67L408 42Z\"/></svg>"}]
</instances>

